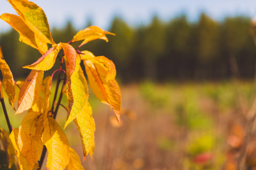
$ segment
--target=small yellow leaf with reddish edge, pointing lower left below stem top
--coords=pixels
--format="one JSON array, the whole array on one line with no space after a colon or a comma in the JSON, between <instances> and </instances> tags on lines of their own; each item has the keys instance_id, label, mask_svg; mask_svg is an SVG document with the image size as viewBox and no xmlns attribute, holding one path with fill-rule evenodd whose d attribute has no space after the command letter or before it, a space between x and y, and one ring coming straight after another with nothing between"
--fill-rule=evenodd
<instances>
[{"instance_id":1,"label":"small yellow leaf with reddish edge, pointing lower left below stem top","mask_svg":"<svg viewBox=\"0 0 256 170\"><path fill-rule=\"evenodd\" d=\"M35 70L42 70L47 71L52 68L55 63L56 57L60 52L60 43L58 45L53 45L42 57L40 57L36 62L29 66L24 66L23 68L27 69L35 69Z\"/></svg>"}]
</instances>

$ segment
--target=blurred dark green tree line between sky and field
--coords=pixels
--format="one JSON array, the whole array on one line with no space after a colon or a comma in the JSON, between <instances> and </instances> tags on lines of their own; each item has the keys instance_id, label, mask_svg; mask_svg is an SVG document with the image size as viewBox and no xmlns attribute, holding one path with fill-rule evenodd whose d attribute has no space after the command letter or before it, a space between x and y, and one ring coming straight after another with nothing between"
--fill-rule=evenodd
<instances>
[{"instance_id":1,"label":"blurred dark green tree line between sky and field","mask_svg":"<svg viewBox=\"0 0 256 170\"><path fill-rule=\"evenodd\" d=\"M131 27L115 17L108 31L116 36L108 36L109 43L92 41L81 50L113 60L117 77L124 83L222 80L235 74L254 78L256 48L250 24L248 17L226 17L217 22L202 13L197 22L190 22L185 15L169 22L154 16L148 25ZM86 27L89 25L92 22ZM56 43L70 41L77 31L72 22L62 29L51 29ZM19 34L12 29L0 34L0 45L14 76L25 77L29 71L20 67L35 62L40 53L18 39Z\"/></svg>"}]
</instances>

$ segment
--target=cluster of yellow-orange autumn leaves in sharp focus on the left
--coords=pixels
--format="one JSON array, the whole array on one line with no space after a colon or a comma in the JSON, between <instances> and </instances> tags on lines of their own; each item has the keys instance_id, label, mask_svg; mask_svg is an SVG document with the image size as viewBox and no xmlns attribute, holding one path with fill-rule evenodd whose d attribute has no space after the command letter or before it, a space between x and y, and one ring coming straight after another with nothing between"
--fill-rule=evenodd
<instances>
[{"instance_id":1,"label":"cluster of yellow-orange autumn leaves in sharp focus on the left","mask_svg":"<svg viewBox=\"0 0 256 170\"><path fill-rule=\"evenodd\" d=\"M0 56L3 87L8 94L9 103L13 110L16 110L15 115L28 111L20 127L12 129L10 138L8 138L7 132L0 129L1 141L6 146L5 151L10 158L8 167L10 168L14 164L13 153L15 152L20 169L40 169L44 160L44 146L46 146L49 152L47 168L83 169L77 153L70 148L68 139L55 118L61 97L65 94L68 99L68 118L65 127L74 121L81 137L84 159L88 153L93 154L95 122L92 117L92 108L88 103L88 85L81 67L83 61L88 81L95 96L102 103L113 108L116 118L120 122L121 94L115 80L115 64L104 56L95 57L91 52L78 50L89 41L95 39L108 41L106 34L115 34L97 26L90 26L77 32L68 43L55 43L42 8L27 0L8 0L8 2L18 15L3 13L0 18L19 32L20 41L42 54L42 57L33 64L24 66L24 68L31 69L31 72L24 82L17 83L20 88L17 110L14 105L16 100L15 81L2 54ZM82 42L77 48L74 48L70 44L76 41ZM49 49L48 44L52 45ZM58 53L61 51L63 54L61 57L59 56L60 69L51 106L51 83L52 76L56 71L52 76L46 78L44 78L44 71L54 66ZM65 64L65 71L62 69L63 64ZM63 85L58 103L55 103L61 82L61 73L65 73L62 78ZM2 93L1 98L3 98Z\"/></svg>"}]
</instances>

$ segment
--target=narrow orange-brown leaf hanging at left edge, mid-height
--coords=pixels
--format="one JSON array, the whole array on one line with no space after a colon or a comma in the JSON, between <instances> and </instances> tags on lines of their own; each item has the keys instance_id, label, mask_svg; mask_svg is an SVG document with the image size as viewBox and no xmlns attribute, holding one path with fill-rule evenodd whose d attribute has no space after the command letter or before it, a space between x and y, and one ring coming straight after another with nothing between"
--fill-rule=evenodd
<instances>
[{"instance_id":1,"label":"narrow orange-brown leaf hanging at left edge, mid-height","mask_svg":"<svg viewBox=\"0 0 256 170\"><path fill-rule=\"evenodd\" d=\"M0 69L3 74L3 87L8 95L9 103L12 105L13 110L14 108L14 103L15 103L15 83L13 80L12 72L10 70L10 67L8 64L5 62L5 60L0 59Z\"/></svg>"}]
</instances>

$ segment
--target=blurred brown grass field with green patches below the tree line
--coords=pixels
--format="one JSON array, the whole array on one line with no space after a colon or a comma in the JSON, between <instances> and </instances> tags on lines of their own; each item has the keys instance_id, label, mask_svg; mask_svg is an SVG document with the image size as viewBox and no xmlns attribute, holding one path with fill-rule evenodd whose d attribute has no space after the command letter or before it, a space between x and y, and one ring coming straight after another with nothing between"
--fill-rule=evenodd
<instances>
[{"instance_id":1,"label":"blurred brown grass field with green patches below the tree line","mask_svg":"<svg viewBox=\"0 0 256 170\"><path fill-rule=\"evenodd\" d=\"M120 127L113 111L90 94L95 152L83 163L86 169L234 169L242 160L247 167L255 164L253 133L248 137L246 120L256 96L252 82L145 82L121 89ZM11 122L18 127L26 113L13 117L12 112ZM0 117L7 129L2 113ZM66 118L60 109L57 120L62 127ZM82 160L76 125L68 125L65 133Z\"/></svg>"}]
</instances>

